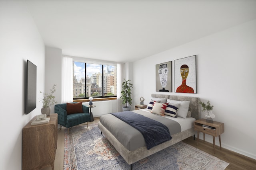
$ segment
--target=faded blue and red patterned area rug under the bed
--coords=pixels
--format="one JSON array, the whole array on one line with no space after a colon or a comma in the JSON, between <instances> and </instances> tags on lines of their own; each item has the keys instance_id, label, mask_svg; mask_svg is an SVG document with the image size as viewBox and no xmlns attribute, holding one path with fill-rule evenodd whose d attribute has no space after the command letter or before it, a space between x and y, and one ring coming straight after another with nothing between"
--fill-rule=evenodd
<instances>
[{"instance_id":1,"label":"faded blue and red patterned area rug under the bed","mask_svg":"<svg viewBox=\"0 0 256 170\"><path fill-rule=\"evenodd\" d=\"M229 163L184 142L133 164L134 170L224 170ZM129 170L97 124L65 129L64 170Z\"/></svg>"}]
</instances>

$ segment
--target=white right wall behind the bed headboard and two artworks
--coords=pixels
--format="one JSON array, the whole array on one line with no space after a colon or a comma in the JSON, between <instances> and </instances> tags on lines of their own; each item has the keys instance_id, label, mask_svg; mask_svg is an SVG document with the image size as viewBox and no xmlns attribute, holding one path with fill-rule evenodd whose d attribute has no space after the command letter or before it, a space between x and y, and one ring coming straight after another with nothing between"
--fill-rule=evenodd
<instances>
[{"instance_id":1,"label":"white right wall behind the bed headboard and two artworks","mask_svg":"<svg viewBox=\"0 0 256 170\"><path fill-rule=\"evenodd\" d=\"M148 104L155 90L155 65L172 61L172 92L195 96L214 106L224 123L222 147L256 159L256 20L134 62L134 104ZM197 55L197 94L174 93L174 60ZM204 113L201 115L204 118ZM200 135L202 139L202 134ZM212 143L212 137L206 135ZM219 145L218 139L216 144Z\"/></svg>"}]
</instances>

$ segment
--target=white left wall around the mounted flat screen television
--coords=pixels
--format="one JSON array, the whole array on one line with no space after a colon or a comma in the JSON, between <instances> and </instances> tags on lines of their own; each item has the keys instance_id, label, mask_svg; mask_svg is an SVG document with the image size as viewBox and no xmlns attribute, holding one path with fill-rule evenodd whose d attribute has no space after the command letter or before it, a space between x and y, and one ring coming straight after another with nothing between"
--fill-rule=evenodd
<instances>
[{"instance_id":1,"label":"white left wall around the mounted flat screen television","mask_svg":"<svg viewBox=\"0 0 256 170\"><path fill-rule=\"evenodd\" d=\"M44 42L23 2L0 1L0 169L22 167L22 128L41 114ZM26 60L37 66L36 109L25 115Z\"/></svg>"}]
</instances>

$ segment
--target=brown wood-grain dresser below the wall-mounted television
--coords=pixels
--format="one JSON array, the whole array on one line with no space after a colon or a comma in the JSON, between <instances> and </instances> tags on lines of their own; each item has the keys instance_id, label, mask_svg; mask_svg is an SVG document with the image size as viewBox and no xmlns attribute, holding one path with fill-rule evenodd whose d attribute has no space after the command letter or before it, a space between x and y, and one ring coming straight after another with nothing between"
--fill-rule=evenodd
<instances>
[{"instance_id":1,"label":"brown wood-grain dresser below the wall-mounted television","mask_svg":"<svg viewBox=\"0 0 256 170\"><path fill-rule=\"evenodd\" d=\"M51 166L54 160L58 139L58 114L50 114L49 123L31 125L34 117L22 129L22 170L37 170Z\"/></svg>"}]
</instances>

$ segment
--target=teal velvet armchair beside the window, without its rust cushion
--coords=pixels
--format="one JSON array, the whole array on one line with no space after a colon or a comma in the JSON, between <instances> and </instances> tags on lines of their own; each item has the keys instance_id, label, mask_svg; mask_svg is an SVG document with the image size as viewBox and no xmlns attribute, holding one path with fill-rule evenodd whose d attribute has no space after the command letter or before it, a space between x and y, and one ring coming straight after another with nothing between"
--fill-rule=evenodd
<instances>
[{"instance_id":1,"label":"teal velvet armchair beside the window, without its rust cushion","mask_svg":"<svg viewBox=\"0 0 256 170\"><path fill-rule=\"evenodd\" d=\"M77 102L72 102L73 104ZM82 105L82 113L72 113L67 114L67 104L56 104L54 106L55 113L58 113L58 124L69 128L73 127L75 125L79 125L81 123L87 122L88 127L88 121L91 120L89 108Z\"/></svg>"}]
</instances>

